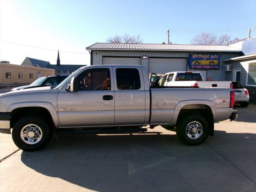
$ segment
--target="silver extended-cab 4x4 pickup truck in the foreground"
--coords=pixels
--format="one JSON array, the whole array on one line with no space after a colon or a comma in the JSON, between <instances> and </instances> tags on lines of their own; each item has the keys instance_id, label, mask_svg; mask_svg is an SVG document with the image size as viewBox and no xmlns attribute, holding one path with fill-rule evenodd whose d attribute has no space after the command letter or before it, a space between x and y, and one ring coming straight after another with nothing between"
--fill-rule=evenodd
<instances>
[{"instance_id":1,"label":"silver extended-cab 4x4 pickup truck in the foreground","mask_svg":"<svg viewBox=\"0 0 256 192\"><path fill-rule=\"evenodd\" d=\"M56 87L0 95L0 128L12 128L26 151L45 147L54 132L145 132L147 125L198 145L213 136L214 122L236 118L234 102L228 88L150 86L142 66L86 66Z\"/></svg>"}]
</instances>

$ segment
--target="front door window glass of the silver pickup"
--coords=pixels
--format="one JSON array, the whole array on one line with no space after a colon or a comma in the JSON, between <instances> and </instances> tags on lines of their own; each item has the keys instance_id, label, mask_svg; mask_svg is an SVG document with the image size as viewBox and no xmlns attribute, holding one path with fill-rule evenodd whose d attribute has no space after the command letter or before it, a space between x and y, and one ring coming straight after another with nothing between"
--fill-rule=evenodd
<instances>
[{"instance_id":1,"label":"front door window glass of the silver pickup","mask_svg":"<svg viewBox=\"0 0 256 192\"><path fill-rule=\"evenodd\" d=\"M78 90L111 90L108 68L89 69L78 75Z\"/></svg>"}]
</instances>

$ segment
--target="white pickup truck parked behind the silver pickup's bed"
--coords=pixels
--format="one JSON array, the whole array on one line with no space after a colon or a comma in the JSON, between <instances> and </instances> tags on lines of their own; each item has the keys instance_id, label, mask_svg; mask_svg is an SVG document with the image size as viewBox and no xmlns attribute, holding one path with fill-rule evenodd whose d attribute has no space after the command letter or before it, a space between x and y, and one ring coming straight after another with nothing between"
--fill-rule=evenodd
<instances>
[{"instance_id":1,"label":"white pickup truck parked behind the silver pickup's bed","mask_svg":"<svg viewBox=\"0 0 256 192\"><path fill-rule=\"evenodd\" d=\"M177 71L164 74L160 86L198 86L232 88L231 81L204 81L200 72Z\"/></svg>"}]
</instances>

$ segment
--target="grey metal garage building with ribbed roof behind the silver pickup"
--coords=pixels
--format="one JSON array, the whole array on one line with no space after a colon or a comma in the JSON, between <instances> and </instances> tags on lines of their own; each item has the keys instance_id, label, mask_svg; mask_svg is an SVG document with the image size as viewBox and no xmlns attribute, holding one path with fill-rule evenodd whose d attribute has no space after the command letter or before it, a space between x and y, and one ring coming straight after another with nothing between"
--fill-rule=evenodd
<instances>
[{"instance_id":1,"label":"grey metal garage building with ribbed roof behind the silver pickup","mask_svg":"<svg viewBox=\"0 0 256 192\"><path fill-rule=\"evenodd\" d=\"M202 73L204 80L208 78L212 81L226 80L223 60L242 55L241 49L219 45L95 43L87 47L86 50L91 54L91 65L142 65L148 74L196 70ZM189 60L194 53L218 54L218 68L213 68L214 66L212 68L210 66L192 68Z\"/></svg>"}]
</instances>

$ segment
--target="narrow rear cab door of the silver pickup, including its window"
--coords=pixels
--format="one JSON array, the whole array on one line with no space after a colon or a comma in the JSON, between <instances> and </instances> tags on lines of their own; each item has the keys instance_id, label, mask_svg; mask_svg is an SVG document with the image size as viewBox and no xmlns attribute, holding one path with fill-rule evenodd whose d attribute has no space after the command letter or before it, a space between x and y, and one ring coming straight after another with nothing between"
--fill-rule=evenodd
<instances>
[{"instance_id":1,"label":"narrow rear cab door of the silver pickup, including its window","mask_svg":"<svg viewBox=\"0 0 256 192\"><path fill-rule=\"evenodd\" d=\"M115 125L145 123L146 96L141 68L113 66Z\"/></svg>"}]
</instances>

